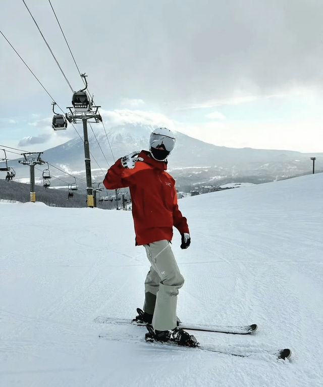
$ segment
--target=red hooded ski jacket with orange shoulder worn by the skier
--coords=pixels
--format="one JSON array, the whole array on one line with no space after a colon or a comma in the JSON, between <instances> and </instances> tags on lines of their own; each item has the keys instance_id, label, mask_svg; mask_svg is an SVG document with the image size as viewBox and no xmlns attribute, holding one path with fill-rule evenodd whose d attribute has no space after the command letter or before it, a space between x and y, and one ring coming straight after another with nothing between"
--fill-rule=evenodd
<instances>
[{"instance_id":1,"label":"red hooded ski jacket with orange shoulder worn by the skier","mask_svg":"<svg viewBox=\"0 0 323 387\"><path fill-rule=\"evenodd\" d=\"M157 161L141 151L133 169L124 168L120 159L107 171L106 189L130 188L136 245L156 240L172 240L173 226L189 233L186 218L177 205L175 180L166 171L167 163Z\"/></svg>"}]
</instances>

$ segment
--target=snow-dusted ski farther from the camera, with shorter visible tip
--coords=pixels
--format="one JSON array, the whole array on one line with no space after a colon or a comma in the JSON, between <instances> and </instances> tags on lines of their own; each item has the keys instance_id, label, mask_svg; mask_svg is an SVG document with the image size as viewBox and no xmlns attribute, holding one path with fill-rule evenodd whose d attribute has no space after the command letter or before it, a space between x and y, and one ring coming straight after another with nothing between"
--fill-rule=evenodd
<instances>
[{"instance_id":1,"label":"snow-dusted ski farther from the camera, with shorter visible tip","mask_svg":"<svg viewBox=\"0 0 323 387\"><path fill-rule=\"evenodd\" d=\"M144 322L138 323L127 318L113 318L98 316L94 319L94 322L101 324L121 324L121 325L139 325L146 326ZM257 330L258 326L256 324L252 325L202 325L202 324L186 324L184 322L179 323L179 327L187 330L197 330L202 332L219 332L219 333L231 333L231 334L249 334Z\"/></svg>"}]
</instances>

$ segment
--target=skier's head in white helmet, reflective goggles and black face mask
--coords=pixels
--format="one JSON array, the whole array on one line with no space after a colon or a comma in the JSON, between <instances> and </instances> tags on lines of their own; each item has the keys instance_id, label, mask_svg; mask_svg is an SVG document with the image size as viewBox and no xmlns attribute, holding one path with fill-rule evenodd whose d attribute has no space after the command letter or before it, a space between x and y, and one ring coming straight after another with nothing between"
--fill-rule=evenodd
<instances>
[{"instance_id":1,"label":"skier's head in white helmet, reflective goggles and black face mask","mask_svg":"<svg viewBox=\"0 0 323 387\"><path fill-rule=\"evenodd\" d=\"M174 146L175 136L170 129L156 128L150 133L149 151L155 160L165 161L173 151Z\"/></svg>"}]
</instances>

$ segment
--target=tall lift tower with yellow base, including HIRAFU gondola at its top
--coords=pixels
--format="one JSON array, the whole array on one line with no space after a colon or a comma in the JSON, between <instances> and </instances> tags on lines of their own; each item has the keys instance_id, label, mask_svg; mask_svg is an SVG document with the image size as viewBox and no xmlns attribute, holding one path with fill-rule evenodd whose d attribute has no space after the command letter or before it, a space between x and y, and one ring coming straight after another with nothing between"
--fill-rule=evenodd
<instances>
[{"instance_id":1,"label":"tall lift tower with yellow base, including HIRAFU gondola at its top","mask_svg":"<svg viewBox=\"0 0 323 387\"><path fill-rule=\"evenodd\" d=\"M88 94L85 91L87 89L86 75L82 74L82 78L85 80L85 88L74 92L72 99L73 107L67 107L70 112L66 113L66 119L70 123L74 124L81 122L83 123L87 206L93 208L94 198L91 177L90 147L87 134L87 122L97 123L102 121L102 117L98 113L98 108L100 108L100 106L93 106L93 101L89 101Z\"/></svg>"}]
</instances>

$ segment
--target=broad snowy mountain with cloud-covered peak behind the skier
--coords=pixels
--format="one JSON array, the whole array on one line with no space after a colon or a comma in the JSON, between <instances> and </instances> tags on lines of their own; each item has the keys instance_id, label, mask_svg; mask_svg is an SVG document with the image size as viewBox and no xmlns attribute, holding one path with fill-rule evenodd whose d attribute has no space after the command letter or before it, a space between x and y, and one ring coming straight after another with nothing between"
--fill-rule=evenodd
<instances>
[{"instance_id":1,"label":"broad snowy mountain with cloud-covered peak behind the skier","mask_svg":"<svg viewBox=\"0 0 323 387\"><path fill-rule=\"evenodd\" d=\"M81 125L76 127L83 137ZM107 168L118 158L132 151L148 149L153 128L151 125L126 124L112 127L105 133L102 126L88 125L92 180L102 181ZM50 164L85 179L84 146L80 137L44 151L42 157ZM315 170L322 171L323 153L218 147L176 132L176 145L169 157L168 170L178 187L189 190L194 185L261 183L308 174L312 171L310 157L317 158ZM19 165L17 168L20 176L28 177L26 167ZM64 176L55 169L51 173Z\"/></svg>"}]
</instances>

